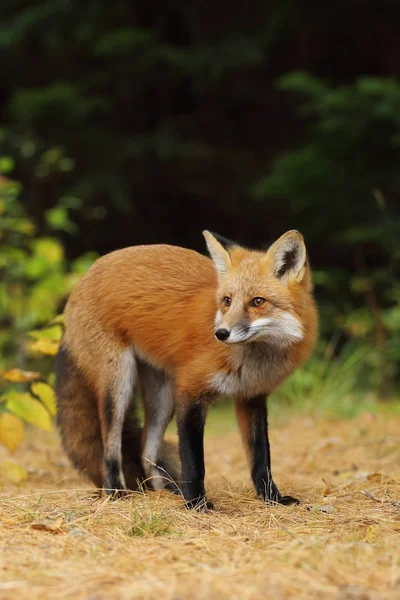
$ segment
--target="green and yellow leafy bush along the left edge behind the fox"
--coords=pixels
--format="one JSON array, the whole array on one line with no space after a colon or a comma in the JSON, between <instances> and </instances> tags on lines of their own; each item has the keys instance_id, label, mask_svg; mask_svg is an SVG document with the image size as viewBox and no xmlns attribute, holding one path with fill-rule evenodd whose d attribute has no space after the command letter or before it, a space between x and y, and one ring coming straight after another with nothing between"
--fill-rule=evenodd
<instances>
[{"instance_id":1,"label":"green and yellow leafy bush along the left edge behind the fox","mask_svg":"<svg viewBox=\"0 0 400 600\"><path fill-rule=\"evenodd\" d=\"M13 163L3 158L0 166L10 170ZM56 412L52 365L42 357L57 352L62 319L56 315L94 258L84 256L69 265L57 238L37 234L19 201L20 190L0 177L0 444L10 452L24 439L24 422L51 429ZM51 228L70 229L69 206L67 199L49 211ZM41 328L29 332L29 341L32 327ZM40 372L24 370L37 364ZM0 471L16 483L26 477L13 460L3 461Z\"/></svg>"}]
</instances>

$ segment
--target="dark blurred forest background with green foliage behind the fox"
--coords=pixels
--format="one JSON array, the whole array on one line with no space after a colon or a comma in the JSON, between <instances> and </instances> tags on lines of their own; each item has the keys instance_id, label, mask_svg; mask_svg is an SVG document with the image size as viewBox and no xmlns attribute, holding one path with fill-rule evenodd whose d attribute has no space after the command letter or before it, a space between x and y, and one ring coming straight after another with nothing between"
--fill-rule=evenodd
<instances>
[{"instance_id":1,"label":"dark blurred forest background with green foliage behind the fox","mask_svg":"<svg viewBox=\"0 0 400 600\"><path fill-rule=\"evenodd\" d=\"M2 0L0 369L51 385L98 255L295 228L321 339L281 399L396 398L399 22L396 0Z\"/></svg>"}]
</instances>

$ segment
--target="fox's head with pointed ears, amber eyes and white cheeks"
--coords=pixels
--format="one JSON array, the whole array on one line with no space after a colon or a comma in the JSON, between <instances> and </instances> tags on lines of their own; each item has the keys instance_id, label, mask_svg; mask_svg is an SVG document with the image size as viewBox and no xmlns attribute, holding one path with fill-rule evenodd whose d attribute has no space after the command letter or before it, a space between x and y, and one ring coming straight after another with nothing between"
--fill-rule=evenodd
<instances>
[{"instance_id":1,"label":"fox's head with pointed ears, amber eyes and white cheeks","mask_svg":"<svg viewBox=\"0 0 400 600\"><path fill-rule=\"evenodd\" d=\"M217 340L280 346L300 342L305 334L301 315L312 302L303 236L288 231L260 252L209 231L203 235L218 276Z\"/></svg>"}]
</instances>

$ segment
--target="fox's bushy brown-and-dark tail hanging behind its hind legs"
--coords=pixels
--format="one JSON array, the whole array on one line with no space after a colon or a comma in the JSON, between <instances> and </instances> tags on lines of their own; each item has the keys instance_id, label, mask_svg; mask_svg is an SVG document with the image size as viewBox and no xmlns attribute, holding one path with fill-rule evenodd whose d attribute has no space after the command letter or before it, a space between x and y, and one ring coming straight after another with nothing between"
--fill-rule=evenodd
<instances>
[{"instance_id":1,"label":"fox's bushy brown-and-dark tail hanging behind its hind legs","mask_svg":"<svg viewBox=\"0 0 400 600\"><path fill-rule=\"evenodd\" d=\"M56 396L63 447L74 467L101 488L103 443L96 397L63 344L56 358ZM122 433L122 470L130 490L136 490L145 479L141 438L142 429L132 406ZM161 460L168 475L178 481L179 460L173 444L163 443ZM146 485L151 488L151 481L146 481Z\"/></svg>"}]
</instances>

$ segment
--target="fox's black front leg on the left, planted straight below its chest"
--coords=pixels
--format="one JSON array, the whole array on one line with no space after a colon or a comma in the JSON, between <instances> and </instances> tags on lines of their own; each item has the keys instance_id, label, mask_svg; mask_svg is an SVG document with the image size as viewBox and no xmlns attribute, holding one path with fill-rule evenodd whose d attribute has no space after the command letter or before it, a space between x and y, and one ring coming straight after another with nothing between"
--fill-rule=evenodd
<instances>
[{"instance_id":1,"label":"fox's black front leg on the left, planted straight below its chest","mask_svg":"<svg viewBox=\"0 0 400 600\"><path fill-rule=\"evenodd\" d=\"M205 402L186 404L177 408L179 453L182 463L181 491L186 508L212 509L204 489L204 424Z\"/></svg>"}]
</instances>

